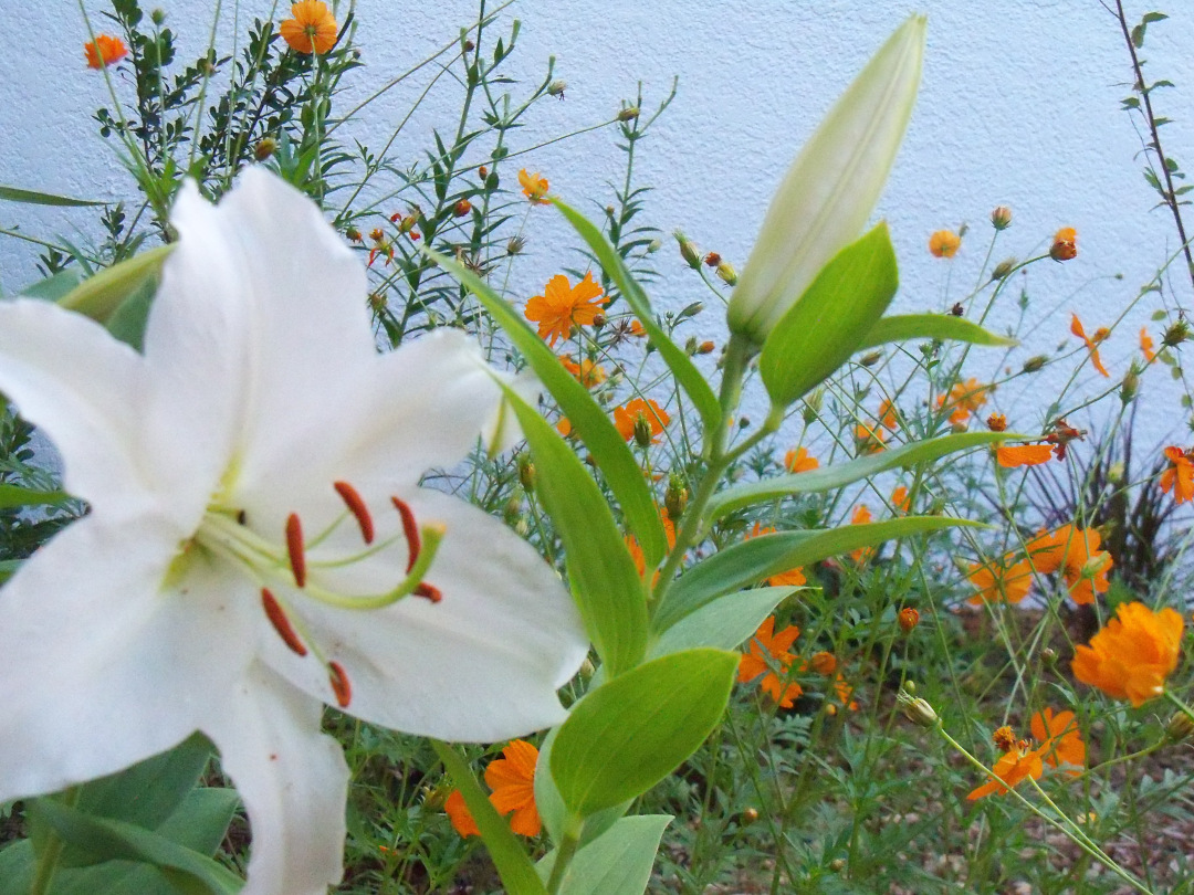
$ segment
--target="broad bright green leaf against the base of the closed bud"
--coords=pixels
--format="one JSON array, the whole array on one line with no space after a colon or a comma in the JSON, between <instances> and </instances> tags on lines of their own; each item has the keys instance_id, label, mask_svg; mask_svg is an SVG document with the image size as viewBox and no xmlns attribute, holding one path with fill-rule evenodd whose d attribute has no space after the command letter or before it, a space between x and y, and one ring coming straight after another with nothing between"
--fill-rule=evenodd
<instances>
[{"instance_id":1,"label":"broad bright green leaf against the base of the closed bud","mask_svg":"<svg viewBox=\"0 0 1194 895\"><path fill-rule=\"evenodd\" d=\"M789 406L844 364L898 285L886 223L833 255L763 342L758 372L771 403Z\"/></svg>"}]
</instances>

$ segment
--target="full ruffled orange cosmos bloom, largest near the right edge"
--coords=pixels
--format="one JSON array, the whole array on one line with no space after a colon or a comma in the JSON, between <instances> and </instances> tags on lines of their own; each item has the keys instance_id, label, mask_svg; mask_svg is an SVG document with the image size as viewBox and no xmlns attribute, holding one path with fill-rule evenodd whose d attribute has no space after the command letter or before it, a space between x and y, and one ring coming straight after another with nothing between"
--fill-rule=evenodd
<instances>
[{"instance_id":1,"label":"full ruffled orange cosmos bloom, largest near the right edge","mask_svg":"<svg viewBox=\"0 0 1194 895\"><path fill-rule=\"evenodd\" d=\"M1183 625L1175 610L1121 603L1090 646L1076 647L1073 677L1140 708L1164 692L1165 678L1177 667Z\"/></svg>"}]
</instances>

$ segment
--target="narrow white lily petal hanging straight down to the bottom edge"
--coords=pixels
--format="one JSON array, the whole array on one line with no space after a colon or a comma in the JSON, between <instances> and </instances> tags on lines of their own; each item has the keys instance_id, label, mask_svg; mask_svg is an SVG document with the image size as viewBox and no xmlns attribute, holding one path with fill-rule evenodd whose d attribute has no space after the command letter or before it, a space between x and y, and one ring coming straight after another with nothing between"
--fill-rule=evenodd
<instances>
[{"instance_id":1,"label":"narrow white lily petal hanging straight down to the bottom edge","mask_svg":"<svg viewBox=\"0 0 1194 895\"><path fill-rule=\"evenodd\" d=\"M349 767L319 732L322 708L254 662L202 722L248 811L241 895L326 895L340 881Z\"/></svg>"}]
</instances>

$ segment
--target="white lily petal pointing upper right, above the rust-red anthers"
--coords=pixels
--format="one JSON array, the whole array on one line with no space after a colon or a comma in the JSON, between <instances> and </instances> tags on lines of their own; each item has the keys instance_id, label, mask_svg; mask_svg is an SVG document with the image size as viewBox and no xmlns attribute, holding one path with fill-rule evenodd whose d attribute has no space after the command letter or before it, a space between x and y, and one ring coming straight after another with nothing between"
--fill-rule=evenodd
<instances>
[{"instance_id":1,"label":"white lily petal pointing upper right, above the rust-red anthers","mask_svg":"<svg viewBox=\"0 0 1194 895\"><path fill-rule=\"evenodd\" d=\"M263 531L281 531L291 512L319 519L315 510L328 495L334 499L336 481L386 496L413 486L432 467L451 467L476 444L499 400L480 350L456 329L437 331L371 362L355 391L345 390L334 411L313 416L312 431L294 436L285 457L242 473L239 493ZM300 444L301 451L293 449Z\"/></svg>"}]
</instances>

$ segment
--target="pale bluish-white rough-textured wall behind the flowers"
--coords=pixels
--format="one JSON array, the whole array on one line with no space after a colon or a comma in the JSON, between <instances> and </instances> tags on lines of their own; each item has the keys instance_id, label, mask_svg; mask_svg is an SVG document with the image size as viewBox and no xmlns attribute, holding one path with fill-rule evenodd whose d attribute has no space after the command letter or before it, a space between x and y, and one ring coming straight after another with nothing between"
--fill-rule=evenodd
<instances>
[{"instance_id":1,"label":"pale bluish-white rough-textured wall behind the flowers","mask_svg":"<svg viewBox=\"0 0 1194 895\"><path fill-rule=\"evenodd\" d=\"M8 13L6 51L0 55L0 183L99 198L130 195L115 154L94 134L93 110L107 98L103 79L81 62L86 29L67 0L31 5L2 0ZM148 6L148 4L147 4ZM160 4L179 33L181 57L207 39L214 4ZM343 5L341 5L343 6ZM492 5L491 5L492 6ZM1134 6L1134 5L1133 5ZM1194 142L1188 98L1194 95L1194 16L1171 5L1174 18L1155 25L1145 56L1153 79L1176 91L1158 91L1161 115L1175 119L1163 131L1170 153L1186 161ZM103 6L88 1L93 14ZM221 33L269 14L266 0L224 0ZM285 7L281 7L284 10ZM921 98L878 215L892 226L901 264L900 309L941 309L972 288L986 254L987 215L997 204L1015 212L999 237L996 258L1040 252L1052 233L1078 229L1081 255L1066 265L1040 265L1028 279L1032 339L1027 357L1069 338L1069 313L1090 328L1109 325L1176 249L1171 221L1151 210L1155 197L1140 178L1140 138L1120 111L1131 79L1124 39L1097 0L922 0L929 14L929 48ZM1151 8L1151 7L1150 7ZM358 0L358 42L365 67L352 97L364 97L395 73L450 41L456 26L475 16L470 0L414 4ZM549 55L567 81L564 101L544 103L517 146L609 118L641 80L651 107L679 76L679 92L642 144L638 173L654 186L646 221L665 233L683 227L703 248L741 265L767 202L806 135L870 53L917 7L891 0L780 2L731 0L521 0L506 11L523 21L511 72L527 81L542 76ZM1131 8L1138 18L1145 7ZM276 14L276 18L281 16ZM101 29L103 23L97 19ZM405 115L418 85L404 85L370 106L355 135L371 144L386 140ZM124 85L127 88L128 85ZM451 126L460 90L443 79L407 125L395 150L412 154L429 142L432 125ZM1184 101L1183 101L1184 100ZM608 183L621 179L615 134L599 130L536 150L527 158L552 179L554 191L604 204ZM516 289L531 294L574 257L544 210L528 224L531 254ZM94 236L87 211L35 210L0 204L0 226L17 221L31 235L73 240ZM934 229L968 222L971 234L952 261L928 255ZM35 252L0 239L0 284L13 291L36 278ZM657 301L675 305L703 298L702 288L665 241L657 257L664 282ZM1116 278L1122 274L1122 278ZM1174 295L1190 300L1188 280L1173 277ZM1008 302L996 326L1015 322ZM1113 375L1126 371L1137 352L1135 333L1157 305L1146 297L1106 346ZM716 315L702 327L718 334ZM702 333L703 334L703 333ZM993 372L990 358L973 372ZM1173 390L1157 371L1150 389L1145 443L1170 434L1184 438ZM1081 379L1101 385L1083 370ZM1040 421L1045 377L1030 389L999 395L1004 409L1023 401Z\"/></svg>"}]
</instances>

